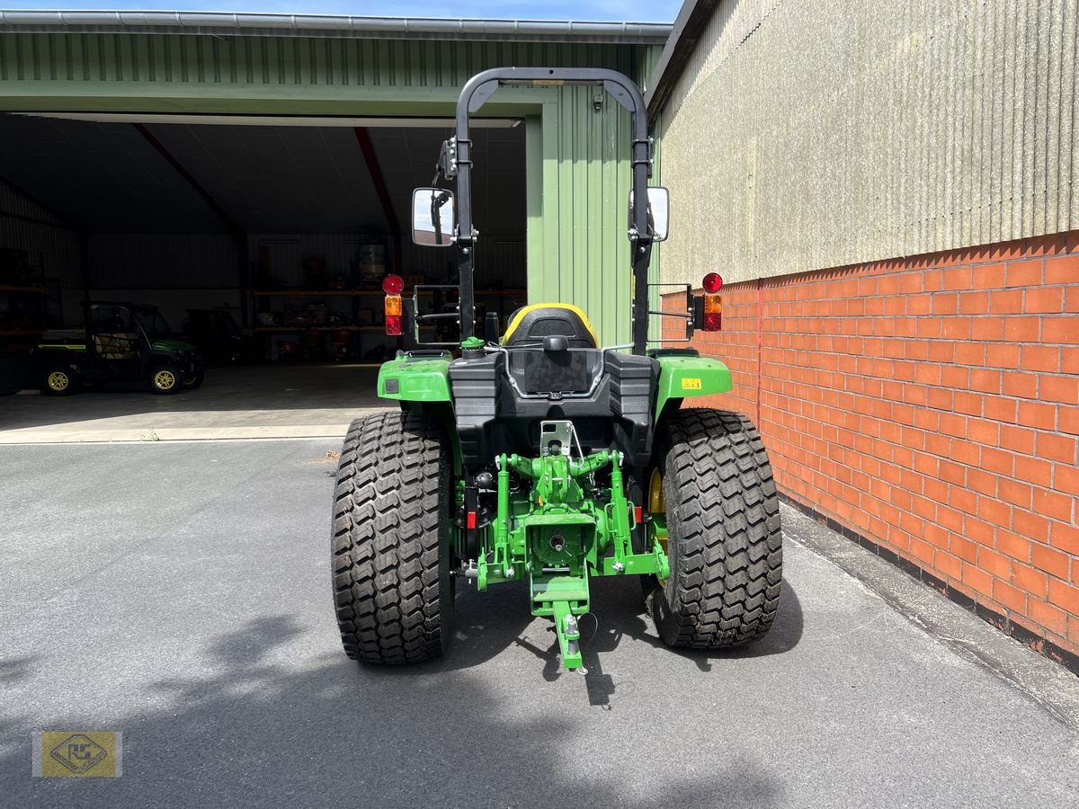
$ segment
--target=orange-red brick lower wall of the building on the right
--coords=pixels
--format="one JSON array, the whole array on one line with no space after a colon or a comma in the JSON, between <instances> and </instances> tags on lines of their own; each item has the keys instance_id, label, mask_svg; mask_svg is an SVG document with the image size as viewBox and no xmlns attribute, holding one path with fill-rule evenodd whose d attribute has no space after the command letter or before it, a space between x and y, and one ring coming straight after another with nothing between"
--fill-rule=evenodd
<instances>
[{"instance_id":1,"label":"orange-red brick lower wall of the building on the right","mask_svg":"<svg viewBox=\"0 0 1079 809\"><path fill-rule=\"evenodd\" d=\"M1079 653L1079 231L722 294L708 403L757 423L781 491Z\"/></svg>"}]
</instances>

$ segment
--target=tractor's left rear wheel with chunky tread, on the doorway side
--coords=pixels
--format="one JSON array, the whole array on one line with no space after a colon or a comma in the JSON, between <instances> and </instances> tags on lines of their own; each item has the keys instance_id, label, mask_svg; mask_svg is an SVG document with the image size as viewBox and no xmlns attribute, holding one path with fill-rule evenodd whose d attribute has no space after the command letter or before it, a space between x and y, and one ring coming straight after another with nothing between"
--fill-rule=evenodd
<instances>
[{"instance_id":1,"label":"tractor's left rear wheel with chunky tread, on the doorway side","mask_svg":"<svg viewBox=\"0 0 1079 809\"><path fill-rule=\"evenodd\" d=\"M439 422L388 412L349 427L338 466L330 562L349 657L438 657L452 633L450 449Z\"/></svg>"}]
</instances>

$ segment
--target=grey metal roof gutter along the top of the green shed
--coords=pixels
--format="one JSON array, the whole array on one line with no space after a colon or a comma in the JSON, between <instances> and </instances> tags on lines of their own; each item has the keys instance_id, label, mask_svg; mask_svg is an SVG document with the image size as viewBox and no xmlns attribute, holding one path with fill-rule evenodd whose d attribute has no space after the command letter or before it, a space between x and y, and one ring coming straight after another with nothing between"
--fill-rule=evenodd
<instances>
[{"instance_id":1,"label":"grey metal roof gutter along the top of the green shed","mask_svg":"<svg viewBox=\"0 0 1079 809\"><path fill-rule=\"evenodd\" d=\"M366 17L166 11L0 11L5 33L187 33L218 37L603 42L660 45L667 23Z\"/></svg>"}]
</instances>

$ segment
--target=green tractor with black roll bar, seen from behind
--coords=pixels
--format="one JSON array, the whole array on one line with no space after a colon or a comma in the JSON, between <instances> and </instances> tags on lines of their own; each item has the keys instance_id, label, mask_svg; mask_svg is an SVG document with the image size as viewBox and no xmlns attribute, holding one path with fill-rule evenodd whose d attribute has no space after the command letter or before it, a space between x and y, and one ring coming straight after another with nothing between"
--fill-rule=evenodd
<instances>
[{"instance_id":1,"label":"green tractor with black roll bar, seen from behind","mask_svg":"<svg viewBox=\"0 0 1079 809\"><path fill-rule=\"evenodd\" d=\"M566 304L475 325L473 169L468 118L504 84L602 86L632 116L629 239L632 343L600 346ZM442 145L445 188L413 194L413 241L455 245L460 283L418 286L411 312L388 276L386 331L460 321L460 346L398 352L378 393L400 409L353 422L337 476L332 579L345 653L396 664L441 655L456 582L528 584L532 615L554 620L562 664L582 669L581 619L596 576L639 576L670 646L738 646L768 631L779 605L782 545L768 456L739 413L683 409L729 390L730 373L692 348L648 348L647 272L666 236L667 194L648 188L652 141L640 91L603 69L496 68L461 92ZM647 204L633 205L633 200ZM722 280L685 285L678 316L691 337L720 328ZM420 314L419 296L454 292L456 308ZM418 341L419 342L419 341Z\"/></svg>"}]
</instances>

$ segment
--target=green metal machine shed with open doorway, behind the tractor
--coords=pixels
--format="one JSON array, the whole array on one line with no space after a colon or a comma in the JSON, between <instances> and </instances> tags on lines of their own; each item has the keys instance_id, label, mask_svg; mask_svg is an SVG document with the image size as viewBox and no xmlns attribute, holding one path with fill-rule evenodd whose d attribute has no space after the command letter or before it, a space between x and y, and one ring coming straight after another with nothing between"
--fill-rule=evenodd
<instances>
[{"instance_id":1,"label":"green metal machine shed with open doorway, behind the tractor","mask_svg":"<svg viewBox=\"0 0 1079 809\"><path fill-rule=\"evenodd\" d=\"M453 104L495 66L639 83L670 26L146 12L0 12L0 348L85 299L230 313L263 359L378 360L378 283L438 283L410 192ZM506 87L475 135L480 314L576 303L625 342L628 114ZM437 301L436 301L437 304ZM319 333L320 332L320 333ZM342 347L346 346L346 347Z\"/></svg>"}]
</instances>

